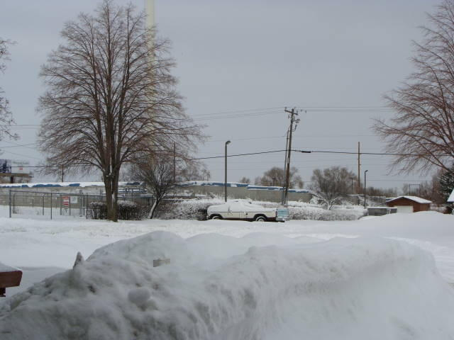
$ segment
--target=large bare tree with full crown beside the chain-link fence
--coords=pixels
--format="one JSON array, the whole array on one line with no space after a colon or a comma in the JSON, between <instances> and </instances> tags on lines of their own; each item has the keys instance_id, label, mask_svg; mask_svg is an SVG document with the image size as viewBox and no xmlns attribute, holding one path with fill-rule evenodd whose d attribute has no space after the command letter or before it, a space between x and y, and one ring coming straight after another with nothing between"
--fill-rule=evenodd
<instances>
[{"instance_id":1,"label":"large bare tree with full crown beside the chain-link fence","mask_svg":"<svg viewBox=\"0 0 454 340\"><path fill-rule=\"evenodd\" d=\"M66 23L61 35L40 72L47 88L38 106L40 147L50 166L99 169L115 221L122 164L175 144L195 147L200 130L175 90L169 44L145 28L143 12L104 0L94 16Z\"/></svg>"}]
</instances>

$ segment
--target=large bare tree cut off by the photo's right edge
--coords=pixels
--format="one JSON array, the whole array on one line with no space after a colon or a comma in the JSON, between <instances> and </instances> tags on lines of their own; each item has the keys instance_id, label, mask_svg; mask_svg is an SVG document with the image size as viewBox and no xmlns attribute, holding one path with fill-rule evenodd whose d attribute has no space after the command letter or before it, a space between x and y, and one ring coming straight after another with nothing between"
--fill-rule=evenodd
<instances>
[{"instance_id":1,"label":"large bare tree cut off by the photo's right edge","mask_svg":"<svg viewBox=\"0 0 454 340\"><path fill-rule=\"evenodd\" d=\"M374 125L399 172L448 170L454 161L454 1L443 1L428 21L424 39L414 42L415 71L384 96L395 117Z\"/></svg>"}]
</instances>

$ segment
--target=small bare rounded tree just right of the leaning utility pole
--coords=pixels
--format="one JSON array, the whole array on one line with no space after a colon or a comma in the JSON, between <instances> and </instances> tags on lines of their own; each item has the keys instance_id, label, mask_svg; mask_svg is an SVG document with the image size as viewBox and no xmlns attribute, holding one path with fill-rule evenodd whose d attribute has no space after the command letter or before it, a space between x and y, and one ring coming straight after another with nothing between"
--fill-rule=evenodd
<instances>
[{"instance_id":1,"label":"small bare rounded tree just right of the leaning utility pole","mask_svg":"<svg viewBox=\"0 0 454 340\"><path fill-rule=\"evenodd\" d=\"M331 209L343 196L350 191L350 178L356 178L352 171L340 166L315 169L311 177L310 190L319 198L326 208Z\"/></svg>"}]
</instances>

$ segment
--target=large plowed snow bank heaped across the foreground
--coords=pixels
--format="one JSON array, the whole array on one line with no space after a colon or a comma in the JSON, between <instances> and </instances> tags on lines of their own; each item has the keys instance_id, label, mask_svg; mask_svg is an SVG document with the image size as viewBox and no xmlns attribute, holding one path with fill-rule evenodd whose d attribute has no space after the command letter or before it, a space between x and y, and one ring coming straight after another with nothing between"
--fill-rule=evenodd
<instances>
[{"instance_id":1,"label":"large plowed snow bank heaped across the foreground","mask_svg":"<svg viewBox=\"0 0 454 340\"><path fill-rule=\"evenodd\" d=\"M404 242L151 232L9 297L0 338L449 339L453 310L431 254Z\"/></svg>"}]
</instances>

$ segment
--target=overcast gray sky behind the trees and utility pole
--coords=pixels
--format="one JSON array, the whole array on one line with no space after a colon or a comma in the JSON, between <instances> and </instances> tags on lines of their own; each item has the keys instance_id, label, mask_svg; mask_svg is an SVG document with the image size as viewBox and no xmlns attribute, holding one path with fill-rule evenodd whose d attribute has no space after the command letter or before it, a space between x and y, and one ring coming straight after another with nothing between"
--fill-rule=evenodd
<instances>
[{"instance_id":1,"label":"overcast gray sky behind the trees and utility pole","mask_svg":"<svg viewBox=\"0 0 454 340\"><path fill-rule=\"evenodd\" d=\"M126 3L126 1L118 1ZM40 117L35 113L43 92L38 72L57 47L63 23L92 0L4 0L0 36L15 40L11 62L0 75L21 135L1 141L0 158L38 164L35 150ZM140 10L143 0L133 0ZM372 118L389 118L382 95L411 72L411 40L438 1L209 1L155 0L160 35L172 40L174 74L186 98L187 113L206 125L209 135L196 157L268 152L285 148L289 125L284 107L297 107L300 123L292 149L382 152L370 130ZM223 158L204 161L211 180L223 181ZM389 157L362 156L367 184L398 187L430 176L387 175ZM284 165L284 153L231 157L228 181L252 181L272 166ZM292 166L308 183L312 171L346 166L357 172L349 154L292 154ZM75 179L75 178L74 178ZM96 178L95 178L96 179ZM35 178L35 181L39 178ZM99 180L99 179L96 179Z\"/></svg>"}]
</instances>

